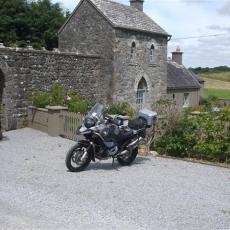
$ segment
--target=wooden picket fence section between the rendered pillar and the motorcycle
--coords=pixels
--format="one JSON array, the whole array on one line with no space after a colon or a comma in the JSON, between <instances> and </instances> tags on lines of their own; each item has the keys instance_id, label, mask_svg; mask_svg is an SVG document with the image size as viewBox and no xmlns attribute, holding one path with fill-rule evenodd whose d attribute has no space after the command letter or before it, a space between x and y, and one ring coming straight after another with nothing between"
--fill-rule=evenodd
<instances>
[{"instance_id":1,"label":"wooden picket fence section between the rendered pillar and the motorcycle","mask_svg":"<svg viewBox=\"0 0 230 230\"><path fill-rule=\"evenodd\" d=\"M73 141L78 141L81 136L76 134L77 129L82 124L84 115L61 111L60 113L60 136Z\"/></svg>"}]
</instances>

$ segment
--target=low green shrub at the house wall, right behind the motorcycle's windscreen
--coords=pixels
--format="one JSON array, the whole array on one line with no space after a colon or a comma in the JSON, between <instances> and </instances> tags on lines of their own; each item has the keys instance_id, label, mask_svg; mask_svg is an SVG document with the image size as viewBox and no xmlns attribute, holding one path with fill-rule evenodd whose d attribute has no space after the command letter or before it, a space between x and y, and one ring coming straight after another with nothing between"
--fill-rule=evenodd
<instances>
[{"instance_id":1,"label":"low green shrub at the house wall, right behind the motorcycle's windscreen","mask_svg":"<svg viewBox=\"0 0 230 230\"><path fill-rule=\"evenodd\" d=\"M137 111L127 102L117 102L109 105L106 109L107 114L123 114L126 113L130 117L134 117Z\"/></svg>"}]
</instances>

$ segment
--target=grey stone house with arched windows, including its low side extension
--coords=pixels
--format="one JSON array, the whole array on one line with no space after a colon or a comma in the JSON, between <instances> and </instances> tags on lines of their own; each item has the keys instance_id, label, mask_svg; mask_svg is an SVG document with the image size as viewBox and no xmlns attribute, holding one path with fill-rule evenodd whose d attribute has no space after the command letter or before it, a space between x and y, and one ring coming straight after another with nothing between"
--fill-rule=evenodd
<instances>
[{"instance_id":1,"label":"grey stone house with arched windows, including its low side extension","mask_svg":"<svg viewBox=\"0 0 230 230\"><path fill-rule=\"evenodd\" d=\"M130 0L130 6L81 0L59 31L59 50L103 58L100 88L107 92L107 102L151 108L155 101L169 97L180 107L198 104L199 82L179 63L181 52L167 62L171 36L143 12L143 4L144 0Z\"/></svg>"}]
</instances>

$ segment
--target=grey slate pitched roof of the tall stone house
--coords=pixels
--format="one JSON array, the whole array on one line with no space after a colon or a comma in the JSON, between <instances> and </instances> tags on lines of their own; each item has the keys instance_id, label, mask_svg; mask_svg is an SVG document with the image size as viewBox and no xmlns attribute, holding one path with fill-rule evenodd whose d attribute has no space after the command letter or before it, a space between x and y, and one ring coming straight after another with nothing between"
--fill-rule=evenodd
<instances>
[{"instance_id":1,"label":"grey slate pitched roof of the tall stone house","mask_svg":"<svg viewBox=\"0 0 230 230\"><path fill-rule=\"evenodd\" d=\"M79 5L74 10L76 12ZM115 28L124 28L135 31L142 31L148 33L155 33L169 36L169 34L162 29L156 22L154 22L144 12L136 9L133 6L124 5L110 0L88 0ZM68 20L66 21L66 23ZM66 23L60 29L64 28Z\"/></svg>"}]
</instances>

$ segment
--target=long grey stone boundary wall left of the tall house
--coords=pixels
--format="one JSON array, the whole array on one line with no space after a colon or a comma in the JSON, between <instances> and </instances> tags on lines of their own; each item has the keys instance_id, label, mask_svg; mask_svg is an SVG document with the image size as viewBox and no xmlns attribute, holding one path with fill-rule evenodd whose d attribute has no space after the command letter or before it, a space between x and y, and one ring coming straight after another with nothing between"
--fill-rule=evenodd
<instances>
[{"instance_id":1,"label":"long grey stone boundary wall left of the tall house","mask_svg":"<svg viewBox=\"0 0 230 230\"><path fill-rule=\"evenodd\" d=\"M103 76L103 60L95 55L61 53L31 48L0 47L0 58L7 63L3 92L3 129L27 125L28 100L32 92L50 90L59 82L65 91L78 90L90 101L105 102L108 81ZM109 87L107 87L109 90Z\"/></svg>"}]
</instances>

